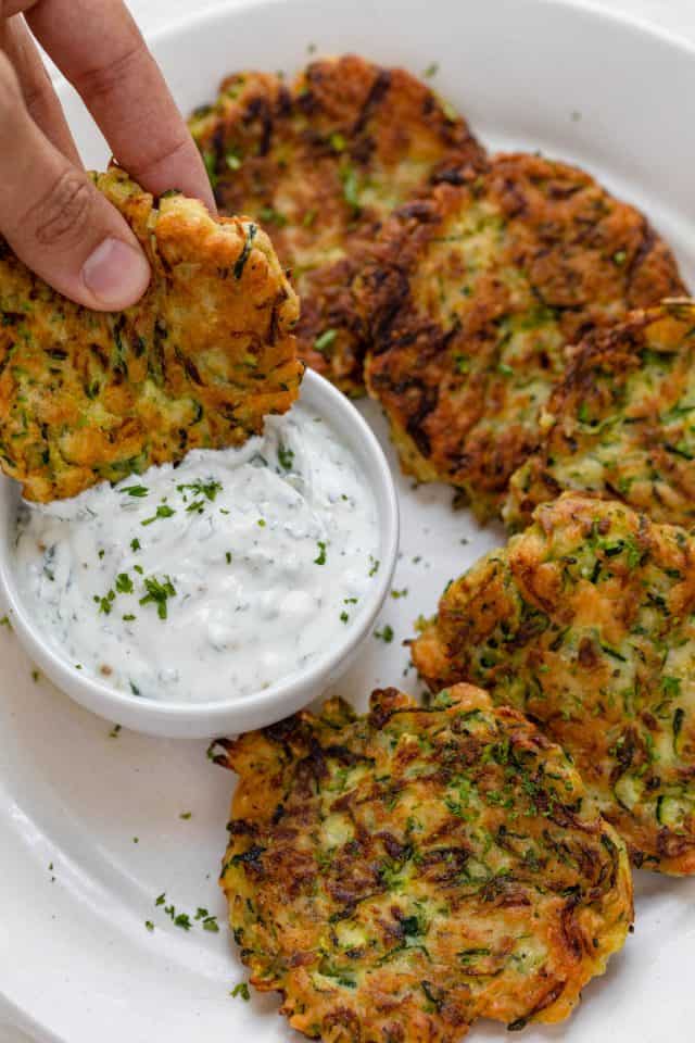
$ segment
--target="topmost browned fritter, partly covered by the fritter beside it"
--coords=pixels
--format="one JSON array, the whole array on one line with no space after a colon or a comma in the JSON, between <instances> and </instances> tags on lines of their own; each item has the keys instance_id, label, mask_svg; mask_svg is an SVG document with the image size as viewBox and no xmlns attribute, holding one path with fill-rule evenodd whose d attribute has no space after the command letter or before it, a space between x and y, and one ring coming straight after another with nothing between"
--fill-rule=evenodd
<instances>
[{"instance_id":1,"label":"topmost browned fritter, partly covered by the fritter beside it","mask_svg":"<svg viewBox=\"0 0 695 1043\"><path fill-rule=\"evenodd\" d=\"M404 70L350 54L312 62L291 87L228 76L190 128L220 211L261 222L292 269L301 357L361 394L352 279L394 206L482 162L466 123Z\"/></svg>"}]
</instances>

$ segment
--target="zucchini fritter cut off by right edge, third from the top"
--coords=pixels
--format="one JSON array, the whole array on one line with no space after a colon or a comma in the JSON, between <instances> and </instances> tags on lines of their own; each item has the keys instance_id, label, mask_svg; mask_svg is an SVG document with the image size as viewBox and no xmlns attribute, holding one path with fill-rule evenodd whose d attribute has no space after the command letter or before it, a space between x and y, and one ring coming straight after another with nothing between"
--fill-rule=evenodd
<instances>
[{"instance_id":1,"label":"zucchini fritter cut off by right edge, third from the top","mask_svg":"<svg viewBox=\"0 0 695 1043\"><path fill-rule=\"evenodd\" d=\"M591 334L541 417L540 448L516 472L511 529L564 490L623 500L654 522L695 525L695 303L635 312Z\"/></svg>"}]
</instances>

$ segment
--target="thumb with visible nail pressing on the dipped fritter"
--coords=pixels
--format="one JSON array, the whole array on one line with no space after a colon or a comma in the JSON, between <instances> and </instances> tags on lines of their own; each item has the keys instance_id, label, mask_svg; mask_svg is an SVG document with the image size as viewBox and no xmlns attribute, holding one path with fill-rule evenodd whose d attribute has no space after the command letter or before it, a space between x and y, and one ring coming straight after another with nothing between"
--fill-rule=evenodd
<instances>
[{"instance_id":1,"label":"thumb with visible nail pressing on the dipped fritter","mask_svg":"<svg viewBox=\"0 0 695 1043\"><path fill-rule=\"evenodd\" d=\"M0 233L54 289L97 311L134 304L150 266L130 228L27 113L0 52Z\"/></svg>"}]
</instances>

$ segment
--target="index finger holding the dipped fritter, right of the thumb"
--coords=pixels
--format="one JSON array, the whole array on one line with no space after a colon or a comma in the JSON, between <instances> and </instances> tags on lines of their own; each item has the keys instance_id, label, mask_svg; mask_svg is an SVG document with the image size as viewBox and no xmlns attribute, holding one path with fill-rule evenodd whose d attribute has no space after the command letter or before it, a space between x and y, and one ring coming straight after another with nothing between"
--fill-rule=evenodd
<instances>
[{"instance_id":1,"label":"index finger holding the dipped fritter, right of the thumb","mask_svg":"<svg viewBox=\"0 0 695 1043\"><path fill-rule=\"evenodd\" d=\"M214 212L202 160L121 0L38 0L31 32L81 96L118 163L148 191L176 188Z\"/></svg>"}]
</instances>

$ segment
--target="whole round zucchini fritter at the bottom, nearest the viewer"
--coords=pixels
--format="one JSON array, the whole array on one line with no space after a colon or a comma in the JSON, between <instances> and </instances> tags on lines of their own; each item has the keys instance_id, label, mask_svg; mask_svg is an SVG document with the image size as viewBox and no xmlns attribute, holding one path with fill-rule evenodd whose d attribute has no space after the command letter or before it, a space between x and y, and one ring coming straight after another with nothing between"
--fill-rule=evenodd
<instances>
[{"instance_id":1,"label":"whole round zucchini fritter at the bottom, nearest the viewer","mask_svg":"<svg viewBox=\"0 0 695 1043\"><path fill-rule=\"evenodd\" d=\"M332 701L228 751L230 925L305 1035L559 1021L624 942L622 842L560 747L479 689L378 691L363 717Z\"/></svg>"}]
</instances>

